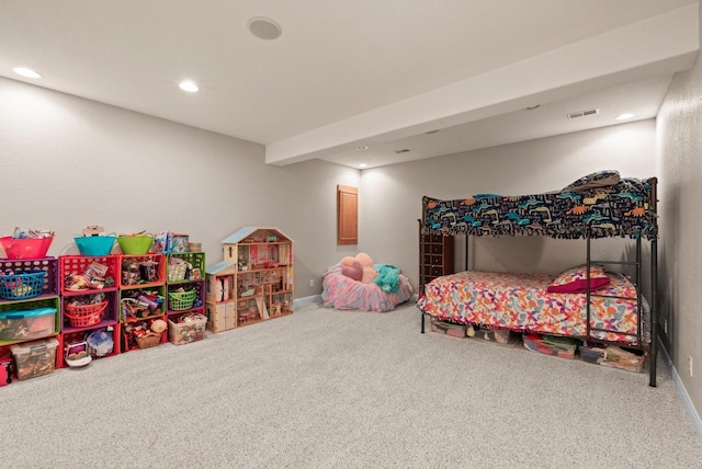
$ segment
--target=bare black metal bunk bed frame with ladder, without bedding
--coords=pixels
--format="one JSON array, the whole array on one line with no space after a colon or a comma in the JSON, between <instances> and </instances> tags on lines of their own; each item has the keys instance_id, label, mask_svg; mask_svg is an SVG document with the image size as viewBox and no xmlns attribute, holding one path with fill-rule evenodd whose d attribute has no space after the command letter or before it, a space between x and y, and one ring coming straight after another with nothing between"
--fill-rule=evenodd
<instances>
[{"instance_id":1,"label":"bare black metal bunk bed frame with ladder, without bedding","mask_svg":"<svg viewBox=\"0 0 702 469\"><path fill-rule=\"evenodd\" d=\"M633 350L641 350L644 352L648 352L649 354L649 380L648 380L648 386L650 387L656 387L656 366L657 366L657 356L658 356L658 344L657 344L657 338L658 338L658 309L657 309L657 285L658 285L658 249L657 249L657 226L656 226L656 218L657 218L657 179L656 178L650 178L648 180L645 180L646 184L647 184L647 207L646 207L646 214L648 216L648 221L649 224L653 225L653 229L647 230L647 232L644 231L629 231L629 232L616 232L615 234L611 234L611 233L607 233L603 231L595 231L590 226L584 226L579 236L573 236L570 238L585 238L586 239L586 265L587 265L587 290L586 290L586 297L587 297L587 308L586 308L586 330L587 330L587 334L585 336L577 336L577 335L571 335L571 338L574 339L580 339L580 340L595 340L598 342L607 342L603 341L601 339L597 339L593 338L591 335L592 332L616 332L619 334L623 334L623 335L632 335L635 336L635 344L626 344L624 346L629 347L629 348L633 348ZM423 197L422 204L422 219L419 220L420 224L420 232L422 234L441 234L441 236L455 236L455 234L465 234L465 270L468 270L468 253L469 253L469 249L468 249L468 242L469 242L469 238L472 236L489 236L489 233L486 232L482 232L479 230L472 230L471 228L466 228L465 226L461 226L457 229L452 229L451 227L446 227L446 226L441 226L441 227L429 227L428 222L429 222L429 217L428 217L428 213L426 210L427 207L427 201L434 201L431 199L429 197ZM455 221L455 217L454 217L454 221ZM513 234L513 233L512 233ZM537 234L537 236L547 236L547 237L553 237L553 238L563 238L563 233L548 233L548 232L530 232L529 234ZM612 237L612 236L616 236L616 237L631 237L633 239L635 239L636 242L636 247L635 247L635 259L633 261L605 261L605 260L592 260L592 253L591 253L591 240L595 238L603 238L603 237ZM649 308L649 312L650 312L650 342L649 344L646 344L645 342L645 331L644 331L644 323L643 323L643 295L642 295L642 285L643 285L643 255L642 255L642 251L643 251L643 245L642 245L642 238L646 238L649 242L650 245L650 301L648 304L648 308ZM424 243L421 242L421 237L420 237L420 243L419 243L419 250L420 250L420 260L424 259ZM635 270L635 274L634 274L634 285L636 287L636 297L632 298L632 297L621 297L621 296L612 296L612 295L600 295L597 291L593 291L590 289L590 267L592 264L600 264L600 265L620 265L620 266L633 266ZM419 291L424 291L424 285L427 284L427 275L424 273L424 268L420 265L420 272L419 272ZM608 330L604 328L593 328L591 327L591 301L592 298L597 298L597 297L604 297L604 298L614 298L614 299L620 299L620 300L624 300L624 301L636 301L636 310L638 311L637 314L637 328L636 328L636 333L624 333L624 332L620 332L620 331L612 331L612 330ZM421 333L424 333L424 317L426 316L430 316L428 312L426 312L424 310L421 310ZM621 343L620 343L621 345Z\"/></svg>"}]
</instances>

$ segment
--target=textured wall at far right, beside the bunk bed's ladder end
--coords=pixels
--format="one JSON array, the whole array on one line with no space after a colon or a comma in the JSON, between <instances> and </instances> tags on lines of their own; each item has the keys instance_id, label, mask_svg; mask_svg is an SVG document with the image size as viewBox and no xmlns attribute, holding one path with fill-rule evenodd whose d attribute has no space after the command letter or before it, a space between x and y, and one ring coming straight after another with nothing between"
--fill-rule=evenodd
<instances>
[{"instance_id":1,"label":"textured wall at far right, beside the bunk bed's ladder end","mask_svg":"<svg viewBox=\"0 0 702 469\"><path fill-rule=\"evenodd\" d=\"M701 10L702 21L702 10ZM657 118L660 174L660 300L665 339L678 374L702 411L702 56L676 73ZM692 357L693 376L689 373Z\"/></svg>"}]
</instances>

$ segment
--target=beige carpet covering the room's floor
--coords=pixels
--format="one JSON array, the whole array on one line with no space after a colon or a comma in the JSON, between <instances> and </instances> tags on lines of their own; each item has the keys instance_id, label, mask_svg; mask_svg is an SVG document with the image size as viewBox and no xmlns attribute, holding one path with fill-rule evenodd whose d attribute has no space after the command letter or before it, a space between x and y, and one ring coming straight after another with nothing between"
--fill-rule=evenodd
<instances>
[{"instance_id":1,"label":"beige carpet covering the room's floor","mask_svg":"<svg viewBox=\"0 0 702 469\"><path fill-rule=\"evenodd\" d=\"M646 373L319 305L0 389L7 468L695 468Z\"/></svg>"}]
</instances>

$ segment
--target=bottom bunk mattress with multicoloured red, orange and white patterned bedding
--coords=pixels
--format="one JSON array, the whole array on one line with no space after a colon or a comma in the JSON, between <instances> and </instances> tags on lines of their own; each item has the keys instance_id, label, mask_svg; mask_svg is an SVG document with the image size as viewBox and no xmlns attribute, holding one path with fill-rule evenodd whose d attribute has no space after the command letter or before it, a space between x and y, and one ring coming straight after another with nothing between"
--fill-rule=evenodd
<instances>
[{"instance_id":1,"label":"bottom bunk mattress with multicoloured red, orange and white patterned bedding","mask_svg":"<svg viewBox=\"0 0 702 469\"><path fill-rule=\"evenodd\" d=\"M638 344L636 288L621 274L608 275L609 286L598 289L597 295L633 300L592 296L590 328L608 332L591 330L590 339ZM553 279L546 274L461 272L427 284L417 306L442 321L586 338L587 295L548 293ZM643 309L645 324L645 302ZM648 343L648 335L643 334L644 343Z\"/></svg>"}]
</instances>

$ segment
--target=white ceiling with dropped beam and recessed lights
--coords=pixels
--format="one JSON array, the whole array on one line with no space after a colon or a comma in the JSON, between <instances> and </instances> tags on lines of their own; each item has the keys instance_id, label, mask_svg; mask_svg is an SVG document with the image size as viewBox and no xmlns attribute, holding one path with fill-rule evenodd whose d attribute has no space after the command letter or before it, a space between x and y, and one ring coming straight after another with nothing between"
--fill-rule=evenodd
<instances>
[{"instance_id":1,"label":"white ceiling with dropped beam and recessed lights","mask_svg":"<svg viewBox=\"0 0 702 469\"><path fill-rule=\"evenodd\" d=\"M698 8L3 0L0 76L259 142L271 164L373 168L613 125L624 112L653 117L672 73L694 61ZM256 16L279 23L280 38L251 34ZM19 77L16 66L42 78ZM200 92L181 91L184 79Z\"/></svg>"}]
</instances>

